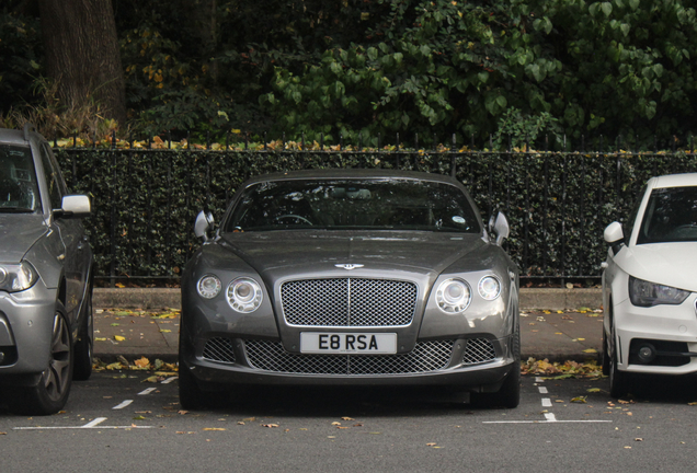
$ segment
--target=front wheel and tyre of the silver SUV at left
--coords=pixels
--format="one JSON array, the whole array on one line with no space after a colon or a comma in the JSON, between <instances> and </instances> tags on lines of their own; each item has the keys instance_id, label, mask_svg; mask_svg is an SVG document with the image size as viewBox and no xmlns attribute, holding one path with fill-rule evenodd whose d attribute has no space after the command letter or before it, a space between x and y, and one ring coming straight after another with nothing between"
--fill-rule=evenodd
<instances>
[{"instance_id":1,"label":"front wheel and tyre of the silver SUV at left","mask_svg":"<svg viewBox=\"0 0 697 473\"><path fill-rule=\"evenodd\" d=\"M57 302L48 366L36 385L13 389L10 409L21 415L50 415L60 411L70 394L73 362L70 326L62 304Z\"/></svg>"}]
</instances>

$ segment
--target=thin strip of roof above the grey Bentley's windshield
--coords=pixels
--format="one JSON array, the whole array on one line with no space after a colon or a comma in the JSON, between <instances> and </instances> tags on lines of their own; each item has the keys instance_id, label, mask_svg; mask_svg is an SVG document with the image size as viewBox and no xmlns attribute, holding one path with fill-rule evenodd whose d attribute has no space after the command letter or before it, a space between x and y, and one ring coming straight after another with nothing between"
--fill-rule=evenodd
<instances>
[{"instance_id":1,"label":"thin strip of roof above the grey Bentley's windshield","mask_svg":"<svg viewBox=\"0 0 697 473\"><path fill-rule=\"evenodd\" d=\"M454 177L444 174L416 172L416 171L398 171L398 170L365 170L365 169L323 169L308 171L288 171L263 174L247 181L243 187L249 185L268 182L268 181L288 181L288 180L324 180L324 178L411 178L419 181L434 181L461 186L462 184Z\"/></svg>"}]
</instances>

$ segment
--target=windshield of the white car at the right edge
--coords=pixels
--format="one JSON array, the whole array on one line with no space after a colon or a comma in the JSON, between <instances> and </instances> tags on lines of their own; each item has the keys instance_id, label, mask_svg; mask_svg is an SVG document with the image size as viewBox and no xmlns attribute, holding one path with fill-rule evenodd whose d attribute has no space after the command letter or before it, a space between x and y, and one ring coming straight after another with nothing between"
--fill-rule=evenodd
<instances>
[{"instance_id":1,"label":"windshield of the white car at the right edge","mask_svg":"<svg viewBox=\"0 0 697 473\"><path fill-rule=\"evenodd\" d=\"M637 244L697 241L697 187L651 192Z\"/></svg>"}]
</instances>

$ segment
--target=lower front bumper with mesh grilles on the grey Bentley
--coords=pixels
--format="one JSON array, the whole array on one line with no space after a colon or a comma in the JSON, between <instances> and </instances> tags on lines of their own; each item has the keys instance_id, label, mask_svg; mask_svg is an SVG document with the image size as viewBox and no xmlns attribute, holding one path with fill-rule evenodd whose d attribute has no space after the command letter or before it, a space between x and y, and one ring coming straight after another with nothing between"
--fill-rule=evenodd
<instances>
[{"instance_id":1,"label":"lower front bumper with mesh grilles on the grey Bentley","mask_svg":"<svg viewBox=\"0 0 697 473\"><path fill-rule=\"evenodd\" d=\"M511 370L517 369L510 337L421 341L414 350L401 355L292 354L278 341L225 337L196 345L180 347L180 369L212 384L447 385L496 392Z\"/></svg>"}]
</instances>

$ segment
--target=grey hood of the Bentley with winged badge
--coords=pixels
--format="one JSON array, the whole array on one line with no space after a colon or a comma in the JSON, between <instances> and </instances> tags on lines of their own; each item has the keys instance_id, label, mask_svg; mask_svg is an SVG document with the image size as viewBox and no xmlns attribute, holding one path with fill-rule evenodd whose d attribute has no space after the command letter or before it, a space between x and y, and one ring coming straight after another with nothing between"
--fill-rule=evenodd
<instances>
[{"instance_id":1,"label":"grey hood of the Bentley with winged badge","mask_svg":"<svg viewBox=\"0 0 697 473\"><path fill-rule=\"evenodd\" d=\"M232 233L221 244L256 272L275 277L330 270L439 274L487 245L479 234L365 231ZM346 272L336 265L363 266Z\"/></svg>"}]
</instances>

